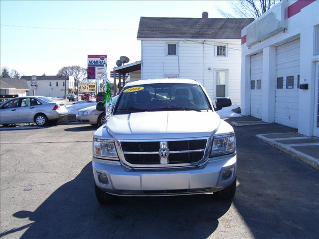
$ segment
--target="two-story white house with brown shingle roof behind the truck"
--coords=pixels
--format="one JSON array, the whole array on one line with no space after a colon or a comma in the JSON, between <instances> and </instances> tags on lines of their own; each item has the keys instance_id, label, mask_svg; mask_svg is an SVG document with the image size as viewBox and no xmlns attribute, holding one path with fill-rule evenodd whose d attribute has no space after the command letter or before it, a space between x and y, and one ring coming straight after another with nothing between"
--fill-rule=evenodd
<instances>
[{"instance_id":1,"label":"two-story white house with brown shingle roof behind the truck","mask_svg":"<svg viewBox=\"0 0 319 239\"><path fill-rule=\"evenodd\" d=\"M198 80L211 100L240 105L241 29L252 18L141 17L141 78Z\"/></svg>"}]
</instances>

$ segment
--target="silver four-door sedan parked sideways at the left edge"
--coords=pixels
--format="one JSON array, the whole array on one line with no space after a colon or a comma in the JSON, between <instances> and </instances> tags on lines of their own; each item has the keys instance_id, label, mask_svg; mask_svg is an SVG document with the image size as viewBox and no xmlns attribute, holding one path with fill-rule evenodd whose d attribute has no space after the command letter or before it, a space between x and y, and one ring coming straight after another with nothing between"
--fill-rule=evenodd
<instances>
[{"instance_id":1,"label":"silver four-door sedan parked sideways at the left edge","mask_svg":"<svg viewBox=\"0 0 319 239\"><path fill-rule=\"evenodd\" d=\"M17 97L1 105L0 124L35 122L38 126L45 126L67 114L64 102L57 103L44 96Z\"/></svg>"}]
</instances>

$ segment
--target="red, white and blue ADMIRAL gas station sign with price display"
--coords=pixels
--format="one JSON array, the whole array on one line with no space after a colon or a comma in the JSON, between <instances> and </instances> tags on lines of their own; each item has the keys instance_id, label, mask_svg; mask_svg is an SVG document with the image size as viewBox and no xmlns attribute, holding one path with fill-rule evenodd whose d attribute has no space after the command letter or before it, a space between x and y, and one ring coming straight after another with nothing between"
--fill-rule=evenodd
<instances>
[{"instance_id":1,"label":"red, white and blue ADMIRAL gas station sign with price display","mask_svg":"<svg viewBox=\"0 0 319 239\"><path fill-rule=\"evenodd\" d=\"M104 64L107 66L107 55L88 55L88 80L100 80Z\"/></svg>"}]
</instances>

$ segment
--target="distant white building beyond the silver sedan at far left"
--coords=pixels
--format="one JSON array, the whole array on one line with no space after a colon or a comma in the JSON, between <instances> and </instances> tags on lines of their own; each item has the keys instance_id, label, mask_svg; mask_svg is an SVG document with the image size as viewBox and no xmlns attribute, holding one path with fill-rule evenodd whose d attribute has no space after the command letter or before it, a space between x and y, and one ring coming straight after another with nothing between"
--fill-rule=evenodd
<instances>
[{"instance_id":1,"label":"distant white building beyond the silver sedan at far left","mask_svg":"<svg viewBox=\"0 0 319 239\"><path fill-rule=\"evenodd\" d=\"M31 86L31 76L22 76L29 87L28 95L33 95L33 87ZM65 81L66 80L66 81ZM66 84L66 87L65 87ZM74 76L37 76L36 87L34 88L34 95L46 97L64 97L74 92L75 89Z\"/></svg>"}]
</instances>

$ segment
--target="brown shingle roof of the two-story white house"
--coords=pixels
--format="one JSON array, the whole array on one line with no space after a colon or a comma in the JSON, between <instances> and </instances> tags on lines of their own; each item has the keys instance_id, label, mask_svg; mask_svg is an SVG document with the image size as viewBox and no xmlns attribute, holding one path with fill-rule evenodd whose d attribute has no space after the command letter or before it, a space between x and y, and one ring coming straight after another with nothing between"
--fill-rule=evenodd
<instances>
[{"instance_id":1,"label":"brown shingle roof of the two-story white house","mask_svg":"<svg viewBox=\"0 0 319 239\"><path fill-rule=\"evenodd\" d=\"M241 39L254 18L141 17L138 38Z\"/></svg>"}]
</instances>

